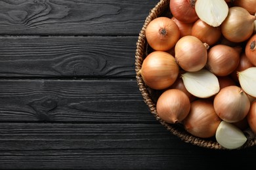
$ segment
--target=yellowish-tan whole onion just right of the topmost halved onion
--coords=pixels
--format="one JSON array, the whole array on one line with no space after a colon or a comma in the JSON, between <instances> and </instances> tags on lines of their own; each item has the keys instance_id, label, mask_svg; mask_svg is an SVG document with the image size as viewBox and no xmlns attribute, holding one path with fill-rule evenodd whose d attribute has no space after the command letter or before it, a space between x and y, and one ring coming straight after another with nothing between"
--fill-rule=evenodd
<instances>
[{"instance_id":1,"label":"yellowish-tan whole onion just right of the topmost halved onion","mask_svg":"<svg viewBox=\"0 0 256 170\"><path fill-rule=\"evenodd\" d=\"M242 7L230 7L228 16L221 24L224 37L232 42L243 42L251 37L256 16L249 14Z\"/></svg>"}]
</instances>

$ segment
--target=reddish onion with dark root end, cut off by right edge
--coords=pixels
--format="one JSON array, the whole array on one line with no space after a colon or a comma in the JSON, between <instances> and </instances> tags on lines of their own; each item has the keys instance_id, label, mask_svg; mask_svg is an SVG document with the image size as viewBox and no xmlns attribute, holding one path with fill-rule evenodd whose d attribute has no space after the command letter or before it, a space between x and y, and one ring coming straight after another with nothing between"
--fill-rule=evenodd
<instances>
[{"instance_id":1,"label":"reddish onion with dark root end, cut off by right edge","mask_svg":"<svg viewBox=\"0 0 256 170\"><path fill-rule=\"evenodd\" d=\"M251 36L249 41L247 41L245 46L245 54L249 61L256 66L256 34Z\"/></svg>"}]
</instances>

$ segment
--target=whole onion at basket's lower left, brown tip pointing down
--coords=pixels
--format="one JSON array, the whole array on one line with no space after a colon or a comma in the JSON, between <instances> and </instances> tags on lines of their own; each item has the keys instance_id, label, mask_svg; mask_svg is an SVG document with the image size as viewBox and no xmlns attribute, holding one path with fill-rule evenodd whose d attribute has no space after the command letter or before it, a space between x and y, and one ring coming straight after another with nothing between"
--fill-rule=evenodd
<instances>
[{"instance_id":1,"label":"whole onion at basket's lower left, brown tip pointing down","mask_svg":"<svg viewBox=\"0 0 256 170\"><path fill-rule=\"evenodd\" d=\"M190 110L188 96L178 89L165 90L156 103L158 116L165 122L177 124L182 122Z\"/></svg>"}]
</instances>

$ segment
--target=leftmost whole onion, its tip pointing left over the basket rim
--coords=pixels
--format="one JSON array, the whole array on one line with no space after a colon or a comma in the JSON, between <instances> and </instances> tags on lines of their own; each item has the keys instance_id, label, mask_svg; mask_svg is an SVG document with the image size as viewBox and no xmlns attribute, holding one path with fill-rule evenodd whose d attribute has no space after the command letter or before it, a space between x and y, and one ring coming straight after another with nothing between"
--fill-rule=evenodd
<instances>
[{"instance_id":1,"label":"leftmost whole onion, its tip pointing left over the basket rim","mask_svg":"<svg viewBox=\"0 0 256 170\"><path fill-rule=\"evenodd\" d=\"M179 75L179 66L171 54L154 51L144 59L139 73L146 85L161 90L175 82Z\"/></svg>"}]
</instances>

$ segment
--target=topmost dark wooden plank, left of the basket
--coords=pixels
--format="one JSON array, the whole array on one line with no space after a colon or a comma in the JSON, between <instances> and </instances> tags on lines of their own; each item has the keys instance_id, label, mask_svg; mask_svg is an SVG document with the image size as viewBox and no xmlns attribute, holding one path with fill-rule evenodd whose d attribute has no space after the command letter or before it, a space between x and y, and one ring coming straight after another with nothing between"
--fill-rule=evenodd
<instances>
[{"instance_id":1,"label":"topmost dark wooden plank, left of the basket","mask_svg":"<svg viewBox=\"0 0 256 170\"><path fill-rule=\"evenodd\" d=\"M0 35L137 35L158 0L1 0Z\"/></svg>"}]
</instances>

